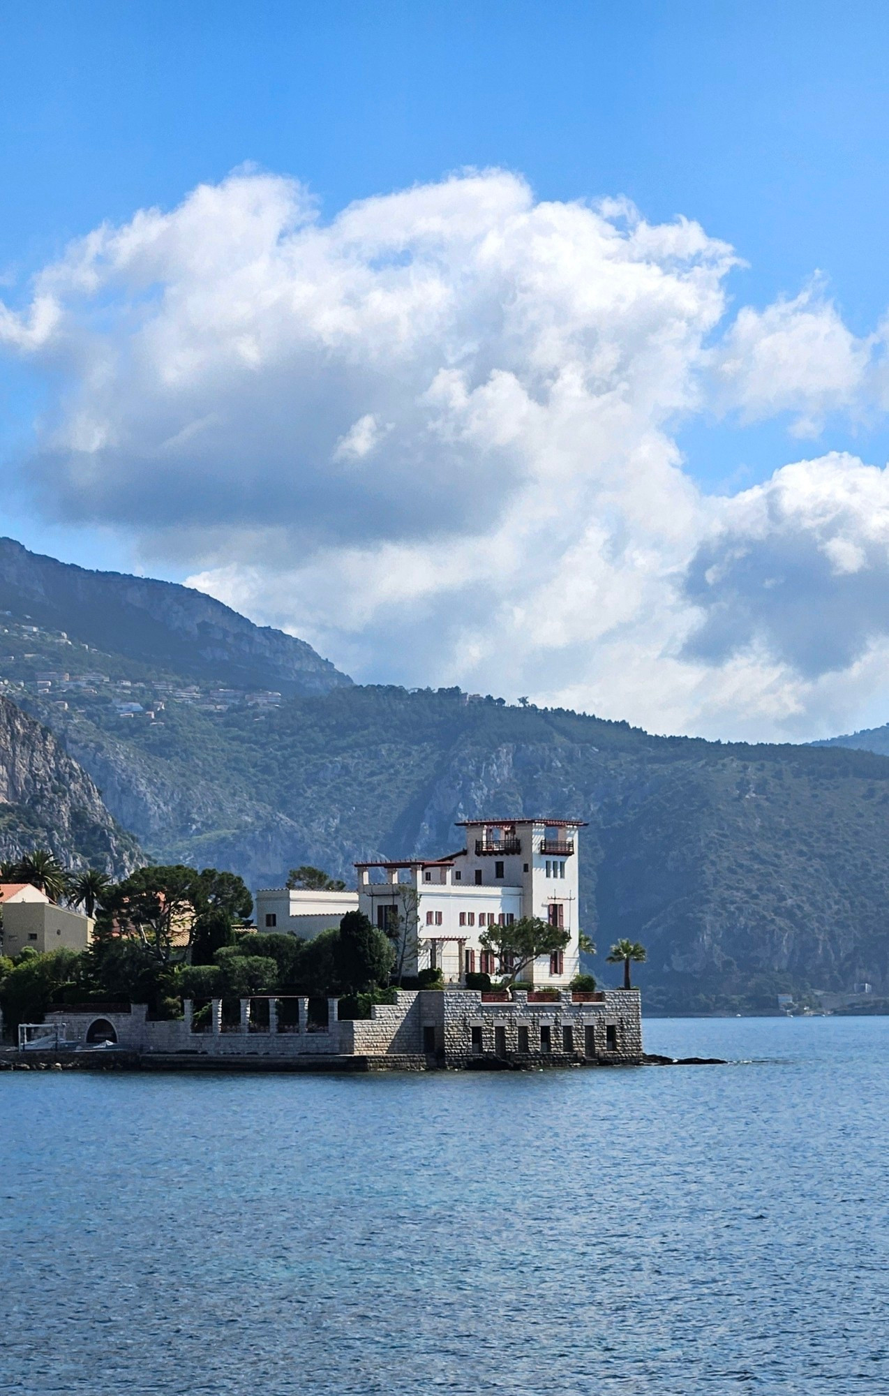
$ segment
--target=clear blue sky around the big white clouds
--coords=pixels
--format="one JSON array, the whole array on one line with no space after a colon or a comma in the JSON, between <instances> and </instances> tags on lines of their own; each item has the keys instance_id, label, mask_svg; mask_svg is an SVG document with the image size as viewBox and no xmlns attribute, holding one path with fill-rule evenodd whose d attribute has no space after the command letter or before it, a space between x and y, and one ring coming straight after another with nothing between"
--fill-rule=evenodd
<instances>
[{"instance_id":1,"label":"clear blue sky around the big white clouds","mask_svg":"<svg viewBox=\"0 0 889 1396\"><path fill-rule=\"evenodd\" d=\"M724 275L729 315L793 299L815 274L854 336L889 306L882 4L36 0L0 15L0 296L11 310L73 239L169 211L244 162L304 181L322 221L495 166L537 201L627 195L652 225L695 219L745 264ZM40 490L21 493L35 416L64 403L66 373L52 355L0 360L4 532L88 565L200 572L221 591L205 549L140 540L114 508L60 517ZM705 402L673 436L705 496L833 450L885 463L882 409L828 408L802 443L789 434L797 416L793 403L748 422ZM232 585L230 599L335 644L268 592ZM377 674L357 649L341 658ZM832 702L818 720L839 720ZM734 718L710 722L705 705L673 722L727 732Z\"/></svg>"}]
</instances>

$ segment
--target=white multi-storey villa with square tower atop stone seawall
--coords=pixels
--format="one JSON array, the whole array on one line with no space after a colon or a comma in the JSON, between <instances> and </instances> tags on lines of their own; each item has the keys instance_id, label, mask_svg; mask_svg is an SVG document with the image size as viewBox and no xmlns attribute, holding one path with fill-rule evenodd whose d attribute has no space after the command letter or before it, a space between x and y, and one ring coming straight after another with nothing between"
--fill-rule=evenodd
<instances>
[{"instance_id":1,"label":"white multi-storey villa with square tower atop stone seawall","mask_svg":"<svg viewBox=\"0 0 889 1396\"><path fill-rule=\"evenodd\" d=\"M539 916L568 931L564 952L544 956L523 977L567 987L579 970L579 819L465 819L466 847L440 859L357 863L354 892L257 892L257 928L310 938L360 909L387 930L416 916L416 955L405 974L440 969L448 984L498 966L479 944L488 926ZM328 905L329 903L329 905ZM413 937L412 937L413 940Z\"/></svg>"}]
</instances>

